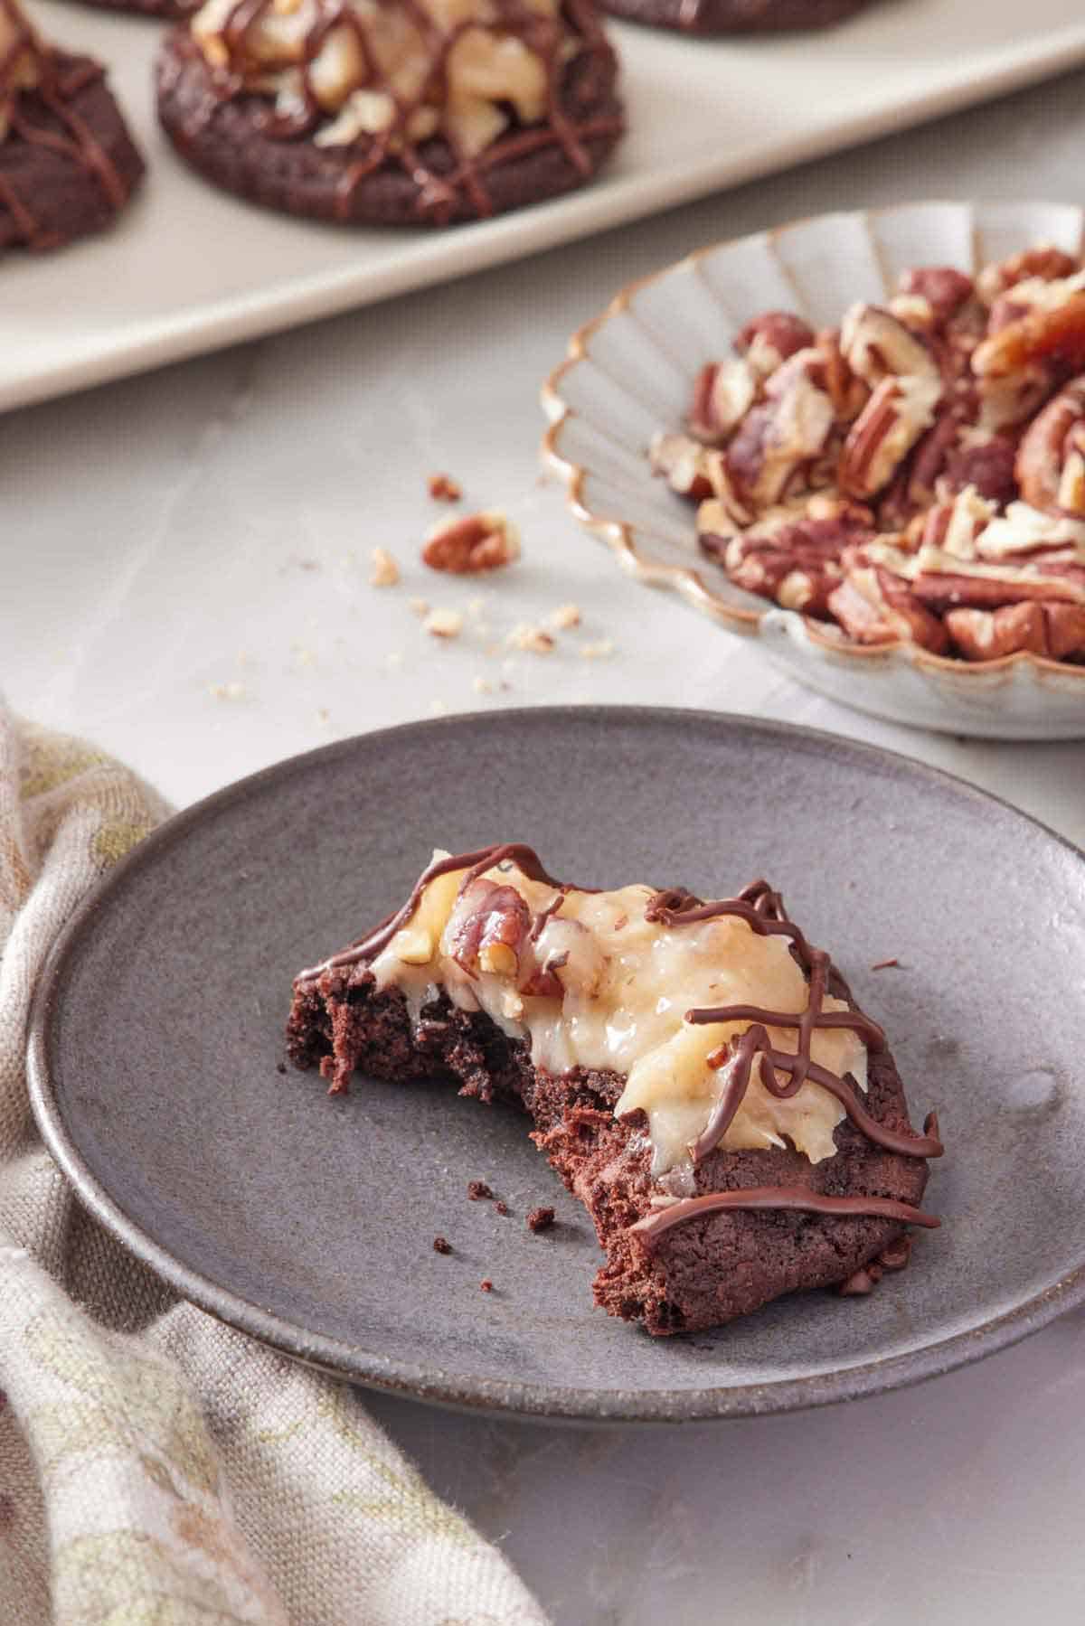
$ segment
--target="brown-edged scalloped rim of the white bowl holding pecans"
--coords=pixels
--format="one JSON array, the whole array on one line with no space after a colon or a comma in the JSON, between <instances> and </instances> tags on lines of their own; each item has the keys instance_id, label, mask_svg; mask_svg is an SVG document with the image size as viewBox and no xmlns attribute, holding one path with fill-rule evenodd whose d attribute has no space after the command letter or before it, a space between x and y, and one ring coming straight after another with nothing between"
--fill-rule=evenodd
<instances>
[{"instance_id":1,"label":"brown-edged scalloped rim of the white bowl holding pecans","mask_svg":"<svg viewBox=\"0 0 1085 1626\"><path fill-rule=\"evenodd\" d=\"M859 224L867 224L869 221L885 220L891 215L900 215L914 210L945 210L958 208L970 211L973 216L973 252L976 231L983 229L983 213L987 210L1005 210L1007 207L1022 208L1064 208L1077 210L1080 221L1078 234L1078 252L1085 254L1085 205L1069 203L1054 198L1031 198L1028 202L1013 198L947 198L947 197L926 197L926 198L906 198L901 203L885 203L875 208L830 208L821 210L817 215L799 215L794 220L786 220L778 224L768 226L761 231L742 233L737 237L721 237L716 242L706 242L699 249L691 249L683 254L682 259L672 260L670 265L664 265L656 272L649 272L644 276L638 276L630 283L625 283L612 298L607 301L602 311L586 322L569 335L566 341L566 353L563 359L551 367L551 371L543 379L538 387L538 398L547 415L547 429L543 431L540 442L540 455L543 467L555 473L564 488L566 506L569 507L573 517L579 525L584 527L590 535L599 537L612 553L617 556L618 564L628 576L649 587L670 587L673 589L686 603L693 605L703 615L711 616L719 621L730 633L739 633L745 637L758 637L769 628L784 628L794 637L805 639L812 646L813 652L821 650L830 657L839 655L854 665L856 672L861 672L864 662L867 667L877 667L890 657L895 662L913 667L922 675L939 676L950 675L953 681L965 680L974 685L983 685L992 673L1010 673L1015 668L1023 668L1031 675L1033 680L1039 680L1041 675L1054 676L1062 681L1064 678L1080 681L1085 685L1085 665L1075 667L1065 660L1051 660L1046 655L1035 655L1031 650L1015 650L1010 655L997 655L991 660L961 660L948 655L935 655L922 646L909 642L903 637L895 637L883 644L851 644L846 641L838 641L821 631L821 626L812 618L799 610L784 610L779 605L766 600L763 608L732 602L724 597L719 590L709 585L703 576L703 564L706 561L693 559L690 564L665 564L651 554L651 538L641 537L641 527L633 520L620 520L613 515L597 512L587 501L584 494L584 486L592 473L584 463L576 462L576 459L566 457L560 447L563 429L581 413L576 406L571 406L563 395L563 382L566 374L573 372L582 363L590 363L590 341L600 333L615 317L623 315L633 306L636 296L656 283L662 283L670 276L682 273L696 273L701 262L709 259L709 255L721 254L726 249L739 247L745 242L765 241L774 246L776 241L789 233L800 233L805 228L812 228L828 220L849 220ZM691 537L696 533L691 528ZM1082 688L1082 698L1085 698L1085 686Z\"/></svg>"}]
</instances>

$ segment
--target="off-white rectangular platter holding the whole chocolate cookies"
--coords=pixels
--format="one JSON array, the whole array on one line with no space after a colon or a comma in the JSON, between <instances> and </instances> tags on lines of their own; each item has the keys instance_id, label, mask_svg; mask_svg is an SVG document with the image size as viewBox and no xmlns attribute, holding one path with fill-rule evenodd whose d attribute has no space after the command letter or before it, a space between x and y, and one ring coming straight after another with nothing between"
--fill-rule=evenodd
<instances>
[{"instance_id":1,"label":"off-white rectangular platter holding the whole chocolate cookies","mask_svg":"<svg viewBox=\"0 0 1085 1626\"><path fill-rule=\"evenodd\" d=\"M739 42L613 26L630 133L594 185L449 231L350 231L249 207L182 166L155 122L153 23L28 10L109 63L150 172L114 231L0 263L0 408L499 265L1085 60L1077 0L874 0L820 36Z\"/></svg>"}]
</instances>

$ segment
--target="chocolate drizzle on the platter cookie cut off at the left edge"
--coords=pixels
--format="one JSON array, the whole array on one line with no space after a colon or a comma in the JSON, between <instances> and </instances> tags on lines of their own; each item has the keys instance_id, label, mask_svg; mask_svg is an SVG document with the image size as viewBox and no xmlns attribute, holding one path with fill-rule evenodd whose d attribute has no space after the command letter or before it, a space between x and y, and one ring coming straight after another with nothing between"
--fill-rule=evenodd
<instances>
[{"instance_id":1,"label":"chocolate drizzle on the platter cookie cut off at the left edge","mask_svg":"<svg viewBox=\"0 0 1085 1626\"><path fill-rule=\"evenodd\" d=\"M0 137L0 154L3 143L11 137L18 137L28 146L59 153L94 179L115 213L129 198L129 184L86 120L72 106L81 89L102 78L104 68L89 57L63 57L44 46L15 0L0 0L0 18L7 20L13 36L0 57L0 109L7 109L8 115L8 132ZM34 65L33 86L20 80L20 68L28 57ZM60 128L52 128L34 117L39 107L52 114ZM49 231L39 221L31 200L23 197L5 174L2 161L0 210L7 211L15 228L15 241L29 249L55 249L65 241L60 233Z\"/></svg>"}]
</instances>

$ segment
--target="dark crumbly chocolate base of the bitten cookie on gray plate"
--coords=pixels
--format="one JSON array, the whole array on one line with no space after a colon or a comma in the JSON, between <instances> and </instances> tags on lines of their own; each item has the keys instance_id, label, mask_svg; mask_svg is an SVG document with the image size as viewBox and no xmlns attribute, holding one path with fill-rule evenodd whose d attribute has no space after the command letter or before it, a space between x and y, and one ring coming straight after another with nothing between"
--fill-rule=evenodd
<instances>
[{"instance_id":1,"label":"dark crumbly chocolate base of the bitten cookie on gray plate","mask_svg":"<svg viewBox=\"0 0 1085 1626\"><path fill-rule=\"evenodd\" d=\"M848 998L834 976L833 992ZM296 992L286 1031L298 1067L320 1065L345 1088L351 1067L410 1083L447 1076L460 1094L504 1096L530 1114L534 1138L553 1169L592 1216L607 1262L595 1301L651 1333L716 1327L782 1293L849 1281L904 1236L895 1220L784 1210L727 1210L665 1233L654 1252L630 1234L660 1187L636 1125L620 1124L613 1104L625 1078L576 1070L553 1076L530 1065L481 1015L464 1015L441 997L412 1026L399 993L374 993L364 966L329 972ZM875 1119L908 1128L904 1091L888 1050L869 1059L865 1106ZM833 1197L891 1197L917 1203L927 1184L921 1158L883 1151L849 1122L836 1128L838 1153L812 1164L794 1150L714 1151L696 1167L696 1195L750 1185L805 1185Z\"/></svg>"}]
</instances>

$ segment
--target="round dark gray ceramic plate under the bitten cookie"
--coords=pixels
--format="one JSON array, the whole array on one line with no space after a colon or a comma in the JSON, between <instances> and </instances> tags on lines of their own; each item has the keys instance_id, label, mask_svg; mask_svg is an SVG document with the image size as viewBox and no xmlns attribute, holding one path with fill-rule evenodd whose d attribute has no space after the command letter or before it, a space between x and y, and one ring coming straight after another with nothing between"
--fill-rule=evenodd
<instances>
[{"instance_id":1,"label":"round dark gray ceramic plate under the bitten cookie","mask_svg":"<svg viewBox=\"0 0 1085 1626\"><path fill-rule=\"evenodd\" d=\"M652 1340L592 1307L589 1223L512 1109L361 1081L330 1099L278 1072L291 974L433 846L506 837L599 886L784 889L887 1024L914 1115L942 1115L943 1228L911 1270ZM303 1359L537 1416L786 1411L943 1372L1085 1298L1083 956L1082 855L904 758L699 712L451 717L281 763L143 842L52 956L34 1106L133 1252ZM467 1202L470 1179L514 1216ZM561 1223L532 1236L540 1202Z\"/></svg>"}]
</instances>

